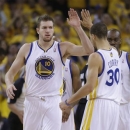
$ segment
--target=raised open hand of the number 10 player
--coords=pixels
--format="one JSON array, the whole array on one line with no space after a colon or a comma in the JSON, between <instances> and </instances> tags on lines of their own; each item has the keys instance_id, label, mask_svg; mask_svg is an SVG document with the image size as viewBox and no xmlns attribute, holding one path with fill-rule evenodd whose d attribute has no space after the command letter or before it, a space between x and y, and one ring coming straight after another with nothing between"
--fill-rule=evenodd
<instances>
[{"instance_id":1,"label":"raised open hand of the number 10 player","mask_svg":"<svg viewBox=\"0 0 130 130\"><path fill-rule=\"evenodd\" d=\"M80 27L80 18L77 14L77 12L74 9L70 9L68 11L69 18L67 18L67 22L72 27Z\"/></svg>"}]
</instances>

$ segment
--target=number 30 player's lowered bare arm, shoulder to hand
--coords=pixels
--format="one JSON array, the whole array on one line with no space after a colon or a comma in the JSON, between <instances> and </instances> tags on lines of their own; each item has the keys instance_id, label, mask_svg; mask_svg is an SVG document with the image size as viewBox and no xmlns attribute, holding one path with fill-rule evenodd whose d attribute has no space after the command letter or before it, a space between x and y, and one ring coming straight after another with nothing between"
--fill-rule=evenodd
<instances>
[{"instance_id":1,"label":"number 30 player's lowered bare arm, shoulder to hand","mask_svg":"<svg viewBox=\"0 0 130 130\"><path fill-rule=\"evenodd\" d=\"M98 62L97 62L98 61ZM81 87L71 98L67 100L67 104L73 104L77 100L91 93L97 82L98 74L102 70L102 59L98 53L93 53L90 55L88 60L88 75L87 83ZM69 107L64 102L60 103L60 108L65 110Z\"/></svg>"}]
</instances>

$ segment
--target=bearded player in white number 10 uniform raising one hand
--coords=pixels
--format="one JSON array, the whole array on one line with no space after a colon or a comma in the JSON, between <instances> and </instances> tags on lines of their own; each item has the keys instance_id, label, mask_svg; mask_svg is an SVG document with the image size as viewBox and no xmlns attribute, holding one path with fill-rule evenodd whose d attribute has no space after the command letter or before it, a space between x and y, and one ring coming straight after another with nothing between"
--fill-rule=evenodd
<instances>
[{"instance_id":1,"label":"bearded player in white number 10 uniform raising one hand","mask_svg":"<svg viewBox=\"0 0 130 130\"><path fill-rule=\"evenodd\" d=\"M63 92L63 66L70 55L82 56L93 52L93 45L83 31L80 18L73 9L68 11L68 24L78 33L82 46L53 40L54 23L48 15L37 21L39 39L24 44L6 73L7 96L11 99L17 89L14 76L26 65L26 92L24 102L24 130L60 130L62 111L59 108Z\"/></svg>"}]
</instances>

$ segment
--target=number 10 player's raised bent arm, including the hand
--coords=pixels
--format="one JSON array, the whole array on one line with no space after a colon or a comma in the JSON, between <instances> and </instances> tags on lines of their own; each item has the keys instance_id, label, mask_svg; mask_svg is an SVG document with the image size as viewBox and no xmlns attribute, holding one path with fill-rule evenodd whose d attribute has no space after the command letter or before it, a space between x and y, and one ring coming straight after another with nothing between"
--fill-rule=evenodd
<instances>
[{"instance_id":1,"label":"number 10 player's raised bent arm, including the hand","mask_svg":"<svg viewBox=\"0 0 130 130\"><path fill-rule=\"evenodd\" d=\"M93 53L94 47L93 47L90 39L84 32L83 28L81 27L80 18L78 16L77 12L74 9L70 9L70 11L68 11L68 15L69 15L69 18L67 18L67 22L78 33L82 46L78 47L78 46L74 45L74 43L62 42L60 44L62 56L66 56L66 55L81 56L81 55L89 55L89 54ZM66 46L66 47L64 47L64 46Z\"/></svg>"}]
</instances>

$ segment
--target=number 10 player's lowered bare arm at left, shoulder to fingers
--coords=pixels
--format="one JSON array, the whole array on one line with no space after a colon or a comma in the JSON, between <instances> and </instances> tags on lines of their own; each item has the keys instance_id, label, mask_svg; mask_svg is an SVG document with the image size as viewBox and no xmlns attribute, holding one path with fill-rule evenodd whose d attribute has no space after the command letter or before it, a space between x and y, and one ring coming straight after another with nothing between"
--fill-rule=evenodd
<instances>
[{"instance_id":1,"label":"number 10 player's lowered bare arm at left, shoulder to fingers","mask_svg":"<svg viewBox=\"0 0 130 130\"><path fill-rule=\"evenodd\" d=\"M27 57L29 49L30 49L30 44L24 44L20 48L16 56L16 59L14 60L10 69L5 75L5 83L7 86L6 93L7 93L7 96L11 99L13 99L13 97L15 96L13 90L16 90L15 86L13 85L14 77L18 73L18 71L24 66L25 57Z\"/></svg>"}]
</instances>

